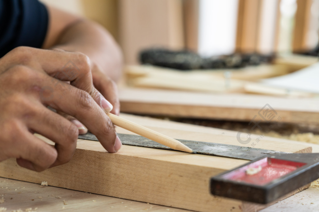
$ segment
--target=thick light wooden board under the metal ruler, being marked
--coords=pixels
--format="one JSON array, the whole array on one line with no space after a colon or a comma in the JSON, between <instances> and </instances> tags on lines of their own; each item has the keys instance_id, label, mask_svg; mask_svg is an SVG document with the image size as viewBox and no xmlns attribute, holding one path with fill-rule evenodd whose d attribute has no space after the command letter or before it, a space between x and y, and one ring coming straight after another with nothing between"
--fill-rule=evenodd
<instances>
[{"instance_id":1,"label":"thick light wooden board under the metal ruler, being marked","mask_svg":"<svg viewBox=\"0 0 319 212\"><path fill-rule=\"evenodd\" d=\"M198 126L199 132L192 133L188 130L191 125L187 124L122 116L174 138L239 145L234 136L236 132ZM127 131L117 128L117 132ZM225 139L220 136L223 133L227 133ZM258 135L252 135L255 137ZM287 145L286 140L274 138L264 138L257 148L311 152L311 147L298 142ZM262 206L214 197L208 190L211 176L246 162L126 145L118 153L108 154L99 142L79 140L72 160L65 165L35 173L18 167L15 160L6 160L0 163L0 176L36 183L48 181L56 187L196 211L211 211L212 208L215 211L255 211Z\"/></svg>"}]
</instances>

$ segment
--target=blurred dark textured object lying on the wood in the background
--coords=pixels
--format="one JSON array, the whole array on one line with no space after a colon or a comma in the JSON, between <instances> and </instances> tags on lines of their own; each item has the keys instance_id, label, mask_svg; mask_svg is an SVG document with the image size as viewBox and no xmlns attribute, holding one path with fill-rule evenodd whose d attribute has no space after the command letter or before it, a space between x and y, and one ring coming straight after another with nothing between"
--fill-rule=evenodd
<instances>
[{"instance_id":1,"label":"blurred dark textured object lying on the wood in the background","mask_svg":"<svg viewBox=\"0 0 319 212\"><path fill-rule=\"evenodd\" d=\"M140 52L142 64L157 65L180 70L242 68L247 65L270 63L273 55L233 54L219 57L203 58L188 50L171 51L163 48L145 49Z\"/></svg>"}]
</instances>

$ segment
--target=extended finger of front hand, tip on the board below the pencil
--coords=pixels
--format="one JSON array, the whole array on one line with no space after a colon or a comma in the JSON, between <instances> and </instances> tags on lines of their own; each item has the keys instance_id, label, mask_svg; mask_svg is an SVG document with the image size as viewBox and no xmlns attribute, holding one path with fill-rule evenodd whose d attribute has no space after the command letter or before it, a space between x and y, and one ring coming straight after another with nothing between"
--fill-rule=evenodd
<instances>
[{"instance_id":1,"label":"extended finger of front hand, tip on the board below the pencil","mask_svg":"<svg viewBox=\"0 0 319 212\"><path fill-rule=\"evenodd\" d=\"M50 83L50 80L53 80L53 83ZM43 82L43 86L54 87L55 82L58 82L58 80L48 79ZM65 92L65 90L68 92ZM69 84L61 83L60 86L55 86L54 89L42 90L42 96L44 97L41 98L44 104L63 111L81 121L88 130L96 135L108 152L114 153L119 149L121 141L116 136L112 121L88 92ZM45 98L47 96L49 98ZM101 96L101 98L103 97ZM104 99L102 101L107 100Z\"/></svg>"}]
</instances>

